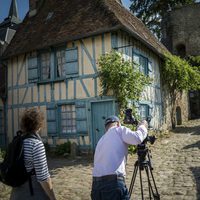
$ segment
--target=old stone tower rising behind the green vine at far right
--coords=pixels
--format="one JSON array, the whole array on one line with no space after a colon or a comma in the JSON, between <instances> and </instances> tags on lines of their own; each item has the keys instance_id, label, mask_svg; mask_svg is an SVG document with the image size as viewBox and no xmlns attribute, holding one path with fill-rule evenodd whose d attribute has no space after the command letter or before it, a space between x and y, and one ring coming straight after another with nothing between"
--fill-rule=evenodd
<instances>
[{"instance_id":1,"label":"old stone tower rising behind the green vine at far right","mask_svg":"<svg viewBox=\"0 0 200 200\"><path fill-rule=\"evenodd\" d=\"M176 8L163 21L162 42L182 58L200 56L200 3ZM189 118L200 118L200 91L189 91Z\"/></svg>"}]
</instances>

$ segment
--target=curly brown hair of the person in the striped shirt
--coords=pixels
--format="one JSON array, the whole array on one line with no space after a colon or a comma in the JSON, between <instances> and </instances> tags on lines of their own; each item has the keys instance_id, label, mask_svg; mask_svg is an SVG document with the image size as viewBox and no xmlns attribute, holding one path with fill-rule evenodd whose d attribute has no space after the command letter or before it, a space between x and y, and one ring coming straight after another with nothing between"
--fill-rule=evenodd
<instances>
[{"instance_id":1,"label":"curly brown hair of the person in the striped shirt","mask_svg":"<svg viewBox=\"0 0 200 200\"><path fill-rule=\"evenodd\" d=\"M24 132L36 132L42 128L43 123L43 113L38 108L28 108L23 112L20 126Z\"/></svg>"}]
</instances>

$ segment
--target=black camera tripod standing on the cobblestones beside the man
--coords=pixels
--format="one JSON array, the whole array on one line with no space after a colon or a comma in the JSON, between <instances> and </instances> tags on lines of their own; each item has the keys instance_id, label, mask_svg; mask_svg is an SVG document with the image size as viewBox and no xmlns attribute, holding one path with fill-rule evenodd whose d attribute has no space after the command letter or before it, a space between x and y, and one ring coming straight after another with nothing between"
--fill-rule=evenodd
<instances>
[{"instance_id":1,"label":"black camera tripod standing on the cobblestones beside the man","mask_svg":"<svg viewBox=\"0 0 200 200\"><path fill-rule=\"evenodd\" d=\"M140 144L137 147L138 160L135 162L133 176L131 179L130 187L129 187L129 195L131 197L133 186L135 184L137 172L139 169L139 177L140 177L140 189L142 200L144 200L144 192L143 192L143 182L142 182L142 171L146 172L147 182L148 182L148 192L149 199L160 200L160 195L158 193L155 179L153 176L153 167L151 166L151 159L148 148L145 144Z\"/></svg>"}]
</instances>

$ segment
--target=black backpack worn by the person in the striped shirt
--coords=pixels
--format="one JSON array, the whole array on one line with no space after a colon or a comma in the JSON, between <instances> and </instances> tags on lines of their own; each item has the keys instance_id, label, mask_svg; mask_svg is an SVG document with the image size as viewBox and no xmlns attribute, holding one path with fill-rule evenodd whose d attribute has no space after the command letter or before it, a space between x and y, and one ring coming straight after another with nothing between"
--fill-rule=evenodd
<instances>
[{"instance_id":1,"label":"black backpack worn by the person in the striped shirt","mask_svg":"<svg viewBox=\"0 0 200 200\"><path fill-rule=\"evenodd\" d=\"M34 174L33 171L27 173L24 165L23 140L26 138L40 139L36 134L23 136L21 131L17 132L8 146L3 162L0 164L0 181L6 185L18 187L31 180L30 176Z\"/></svg>"}]
</instances>

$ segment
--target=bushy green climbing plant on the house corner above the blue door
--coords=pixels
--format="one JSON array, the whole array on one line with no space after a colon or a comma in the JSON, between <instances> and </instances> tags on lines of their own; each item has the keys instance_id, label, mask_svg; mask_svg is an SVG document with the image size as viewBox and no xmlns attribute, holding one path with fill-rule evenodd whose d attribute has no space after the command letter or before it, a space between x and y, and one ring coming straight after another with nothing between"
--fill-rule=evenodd
<instances>
[{"instance_id":1,"label":"bushy green climbing plant on the house corner above the blue door","mask_svg":"<svg viewBox=\"0 0 200 200\"><path fill-rule=\"evenodd\" d=\"M115 96L120 109L124 109L129 100L138 100L144 87L151 82L138 65L125 61L119 52L102 55L98 63L102 95Z\"/></svg>"}]
</instances>

